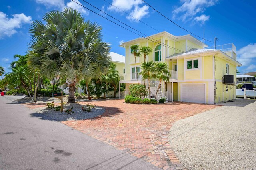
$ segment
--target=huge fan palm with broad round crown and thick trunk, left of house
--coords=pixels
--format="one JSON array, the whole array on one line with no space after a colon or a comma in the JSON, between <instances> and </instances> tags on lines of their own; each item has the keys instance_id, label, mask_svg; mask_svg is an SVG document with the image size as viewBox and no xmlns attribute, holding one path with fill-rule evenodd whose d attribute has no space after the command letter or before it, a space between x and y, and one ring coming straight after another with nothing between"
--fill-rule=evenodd
<instances>
[{"instance_id":1,"label":"huge fan palm with broad round crown and thick trunk, left of house","mask_svg":"<svg viewBox=\"0 0 256 170\"><path fill-rule=\"evenodd\" d=\"M68 103L75 102L75 87L81 79L100 77L110 64L110 45L102 41L102 27L84 21L72 8L50 11L32 23L29 63L53 79L66 78Z\"/></svg>"}]
</instances>

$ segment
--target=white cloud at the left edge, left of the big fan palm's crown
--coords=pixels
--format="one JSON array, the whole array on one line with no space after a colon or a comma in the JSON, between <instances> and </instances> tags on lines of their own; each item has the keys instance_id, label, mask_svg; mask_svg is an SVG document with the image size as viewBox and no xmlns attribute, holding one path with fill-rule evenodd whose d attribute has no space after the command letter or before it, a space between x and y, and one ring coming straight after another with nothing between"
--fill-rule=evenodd
<instances>
[{"instance_id":1,"label":"white cloud at the left edge, left of the big fan palm's crown","mask_svg":"<svg viewBox=\"0 0 256 170\"><path fill-rule=\"evenodd\" d=\"M25 14L13 14L12 18L0 11L0 39L5 36L12 36L17 32L17 28L21 28L23 24L28 24L32 22L31 16L26 16Z\"/></svg>"}]
</instances>

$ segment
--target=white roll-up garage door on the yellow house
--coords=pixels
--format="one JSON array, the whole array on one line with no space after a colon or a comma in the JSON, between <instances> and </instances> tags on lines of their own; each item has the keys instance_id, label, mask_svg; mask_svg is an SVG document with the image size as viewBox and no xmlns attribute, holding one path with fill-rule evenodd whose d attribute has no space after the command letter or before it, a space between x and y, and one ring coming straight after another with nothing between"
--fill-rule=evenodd
<instances>
[{"instance_id":1,"label":"white roll-up garage door on the yellow house","mask_svg":"<svg viewBox=\"0 0 256 170\"><path fill-rule=\"evenodd\" d=\"M205 85L182 85L182 101L205 103Z\"/></svg>"}]
</instances>

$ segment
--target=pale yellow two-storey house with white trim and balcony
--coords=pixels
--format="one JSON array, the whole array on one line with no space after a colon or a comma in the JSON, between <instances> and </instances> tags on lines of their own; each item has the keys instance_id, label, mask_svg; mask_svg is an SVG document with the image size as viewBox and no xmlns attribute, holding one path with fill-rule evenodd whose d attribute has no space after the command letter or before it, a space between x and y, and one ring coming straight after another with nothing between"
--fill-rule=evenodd
<instances>
[{"instance_id":1,"label":"pale yellow two-storey house with white trim and balcony","mask_svg":"<svg viewBox=\"0 0 256 170\"><path fill-rule=\"evenodd\" d=\"M165 97L168 101L218 103L236 98L236 67L242 64L236 61L236 47L233 44L216 46L214 50L190 35L174 36L164 31L150 37L155 40L137 38L120 45L125 48L126 54L126 74L120 81L126 83L126 95L129 94L129 85L137 83L130 46L140 45L153 49L146 61L166 62L170 69L170 80L162 83L157 100ZM156 40L165 45L159 45ZM143 60L143 57L136 58L138 72L141 71ZM222 83L224 75L234 75L234 78L231 76L233 82ZM138 77L141 83L141 75ZM154 96L156 86L158 82L152 80L150 96Z\"/></svg>"}]
</instances>

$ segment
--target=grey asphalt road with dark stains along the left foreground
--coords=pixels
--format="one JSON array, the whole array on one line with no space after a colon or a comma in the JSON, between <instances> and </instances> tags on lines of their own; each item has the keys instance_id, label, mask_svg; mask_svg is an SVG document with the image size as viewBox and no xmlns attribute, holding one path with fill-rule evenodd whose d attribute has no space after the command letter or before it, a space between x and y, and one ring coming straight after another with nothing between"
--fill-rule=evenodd
<instances>
[{"instance_id":1,"label":"grey asphalt road with dark stains along the left foreground","mask_svg":"<svg viewBox=\"0 0 256 170\"><path fill-rule=\"evenodd\" d=\"M148 162L0 96L2 170L154 170Z\"/></svg>"}]
</instances>

